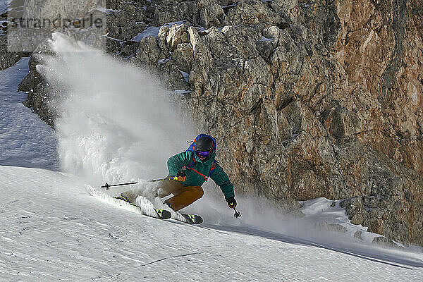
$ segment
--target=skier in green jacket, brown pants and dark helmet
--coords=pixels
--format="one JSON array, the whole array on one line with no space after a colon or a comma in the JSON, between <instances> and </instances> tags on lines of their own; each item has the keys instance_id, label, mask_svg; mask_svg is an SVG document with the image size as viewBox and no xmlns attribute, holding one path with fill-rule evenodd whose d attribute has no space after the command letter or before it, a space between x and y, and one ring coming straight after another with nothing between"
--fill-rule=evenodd
<instances>
[{"instance_id":1,"label":"skier in green jacket, brown pants and dark helmet","mask_svg":"<svg viewBox=\"0 0 423 282\"><path fill-rule=\"evenodd\" d=\"M175 212L188 207L204 195L201 187L210 177L219 185L226 202L231 209L235 209L236 201L233 184L223 168L217 164L216 140L206 134L200 134L190 147L182 153L170 157L167 161L169 176L176 176L178 180L161 181L157 187L158 197L173 197L164 201ZM132 191L121 193L118 199L134 203L137 194Z\"/></svg>"}]
</instances>

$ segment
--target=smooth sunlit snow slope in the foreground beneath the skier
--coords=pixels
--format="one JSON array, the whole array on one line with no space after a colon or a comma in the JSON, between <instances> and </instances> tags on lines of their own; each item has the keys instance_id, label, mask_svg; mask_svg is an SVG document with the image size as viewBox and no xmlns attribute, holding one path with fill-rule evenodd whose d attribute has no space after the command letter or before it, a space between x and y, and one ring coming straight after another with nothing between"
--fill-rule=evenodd
<instances>
[{"instance_id":1,"label":"smooth sunlit snow slope in the foreground beneath the skier","mask_svg":"<svg viewBox=\"0 0 423 282\"><path fill-rule=\"evenodd\" d=\"M190 226L91 197L63 173L0 166L1 281L420 281L423 255Z\"/></svg>"}]
</instances>

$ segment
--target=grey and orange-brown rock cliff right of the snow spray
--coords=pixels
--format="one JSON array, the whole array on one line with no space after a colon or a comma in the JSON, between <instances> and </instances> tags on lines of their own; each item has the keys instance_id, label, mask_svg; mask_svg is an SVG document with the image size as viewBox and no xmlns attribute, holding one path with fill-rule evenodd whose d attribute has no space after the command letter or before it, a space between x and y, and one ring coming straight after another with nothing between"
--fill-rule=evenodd
<instances>
[{"instance_id":1,"label":"grey and orange-brown rock cliff right of the snow spray","mask_svg":"<svg viewBox=\"0 0 423 282\"><path fill-rule=\"evenodd\" d=\"M238 194L289 209L298 200L348 198L353 223L423 245L420 1L152 0L112 8L109 36L123 43L111 50L189 93L188 111L219 137ZM128 41L147 25L180 20L157 37Z\"/></svg>"}]
</instances>

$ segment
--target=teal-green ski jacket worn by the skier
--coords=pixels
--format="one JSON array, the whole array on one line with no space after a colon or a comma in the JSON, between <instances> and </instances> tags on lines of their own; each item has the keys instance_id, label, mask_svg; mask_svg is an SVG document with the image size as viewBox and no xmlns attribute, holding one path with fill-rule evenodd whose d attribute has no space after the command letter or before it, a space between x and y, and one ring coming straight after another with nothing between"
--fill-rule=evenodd
<instances>
[{"instance_id":1,"label":"teal-green ski jacket worn by the skier","mask_svg":"<svg viewBox=\"0 0 423 282\"><path fill-rule=\"evenodd\" d=\"M210 168L212 168L215 157L216 154L212 152L212 157L210 157L210 159L207 161L202 162L200 158L197 157L195 152L192 151L176 154L175 156L168 159L169 176L176 176L181 168L192 164L192 158L195 158L195 165L192 168L204 174L204 176L209 176L209 171ZM201 186L205 182L204 177L200 176L200 174L196 173L192 169L185 171L185 174L187 179L184 182L180 182L184 186ZM219 164L216 163L213 174L210 176L210 178L212 178L214 182L219 185L223 195L225 195L225 200L227 200L229 197L235 197L235 193L233 192L233 184L231 183L231 180L229 180L226 172L223 171L223 168L219 166Z\"/></svg>"}]
</instances>

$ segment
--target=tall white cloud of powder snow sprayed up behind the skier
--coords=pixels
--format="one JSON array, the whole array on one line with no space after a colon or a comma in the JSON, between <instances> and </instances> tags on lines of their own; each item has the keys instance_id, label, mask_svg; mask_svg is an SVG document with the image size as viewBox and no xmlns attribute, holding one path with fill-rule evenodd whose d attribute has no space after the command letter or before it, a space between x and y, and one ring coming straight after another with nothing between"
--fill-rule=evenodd
<instances>
[{"instance_id":1,"label":"tall white cloud of powder snow sprayed up behind the skier","mask_svg":"<svg viewBox=\"0 0 423 282\"><path fill-rule=\"evenodd\" d=\"M56 56L37 71L60 101L61 168L97 185L167 175L166 160L186 147L184 125L170 95L147 71L54 33Z\"/></svg>"}]
</instances>

